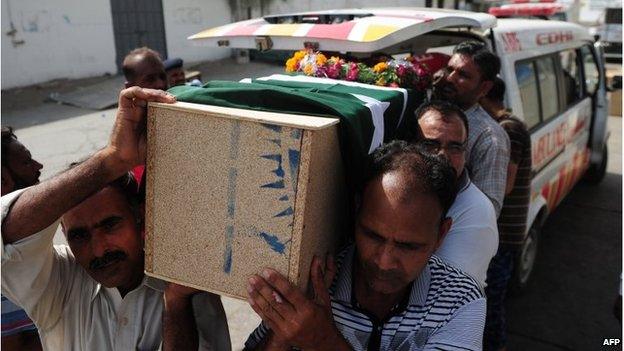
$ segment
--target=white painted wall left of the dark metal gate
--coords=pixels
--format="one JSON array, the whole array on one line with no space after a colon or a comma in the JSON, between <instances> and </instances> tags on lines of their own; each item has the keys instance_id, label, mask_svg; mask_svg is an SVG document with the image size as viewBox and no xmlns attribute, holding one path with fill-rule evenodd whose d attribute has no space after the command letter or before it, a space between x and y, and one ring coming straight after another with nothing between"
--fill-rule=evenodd
<instances>
[{"instance_id":1,"label":"white painted wall left of the dark metal gate","mask_svg":"<svg viewBox=\"0 0 624 351\"><path fill-rule=\"evenodd\" d=\"M2 89L117 70L109 0L2 0L1 35Z\"/></svg>"}]
</instances>

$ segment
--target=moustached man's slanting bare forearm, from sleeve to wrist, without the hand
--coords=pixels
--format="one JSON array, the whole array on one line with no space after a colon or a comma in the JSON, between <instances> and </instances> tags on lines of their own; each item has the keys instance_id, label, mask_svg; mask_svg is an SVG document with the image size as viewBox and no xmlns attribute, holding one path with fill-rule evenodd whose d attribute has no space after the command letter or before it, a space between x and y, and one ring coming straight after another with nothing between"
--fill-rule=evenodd
<instances>
[{"instance_id":1,"label":"moustached man's slanting bare forearm, from sleeve to wrist, without the hand","mask_svg":"<svg viewBox=\"0 0 624 351\"><path fill-rule=\"evenodd\" d=\"M82 164L27 189L2 221L3 242L10 244L45 229L124 171L103 149Z\"/></svg>"}]
</instances>

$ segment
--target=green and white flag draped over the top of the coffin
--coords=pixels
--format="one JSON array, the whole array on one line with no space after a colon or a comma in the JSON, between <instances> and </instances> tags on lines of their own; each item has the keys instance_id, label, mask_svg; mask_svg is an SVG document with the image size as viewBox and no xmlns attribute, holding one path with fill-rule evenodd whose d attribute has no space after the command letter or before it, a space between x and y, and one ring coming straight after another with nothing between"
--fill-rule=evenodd
<instances>
[{"instance_id":1,"label":"green and white flag draped over the top of the coffin","mask_svg":"<svg viewBox=\"0 0 624 351\"><path fill-rule=\"evenodd\" d=\"M406 89L281 74L177 86L169 92L184 102L339 118L342 158L351 186L357 188L363 185L367 155L396 136L422 99Z\"/></svg>"}]
</instances>

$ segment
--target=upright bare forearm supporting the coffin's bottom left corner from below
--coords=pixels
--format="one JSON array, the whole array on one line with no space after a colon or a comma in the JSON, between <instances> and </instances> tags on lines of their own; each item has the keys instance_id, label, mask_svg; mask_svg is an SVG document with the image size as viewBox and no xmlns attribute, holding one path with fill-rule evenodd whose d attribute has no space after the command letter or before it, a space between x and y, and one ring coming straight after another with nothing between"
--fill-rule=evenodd
<instances>
[{"instance_id":1,"label":"upright bare forearm supporting the coffin's bottom left corner from below","mask_svg":"<svg viewBox=\"0 0 624 351\"><path fill-rule=\"evenodd\" d=\"M163 313L163 350L197 350L199 334L193 315L192 296L168 297Z\"/></svg>"}]
</instances>

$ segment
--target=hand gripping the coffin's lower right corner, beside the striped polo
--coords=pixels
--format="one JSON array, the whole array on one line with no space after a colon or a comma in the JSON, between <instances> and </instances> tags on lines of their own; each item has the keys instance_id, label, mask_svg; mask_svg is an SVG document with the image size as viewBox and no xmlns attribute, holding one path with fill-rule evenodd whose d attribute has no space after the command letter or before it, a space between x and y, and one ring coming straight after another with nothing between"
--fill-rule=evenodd
<instances>
[{"instance_id":1,"label":"hand gripping the coffin's lower right corner, beside the striped polo","mask_svg":"<svg viewBox=\"0 0 624 351\"><path fill-rule=\"evenodd\" d=\"M311 298L270 268L249 278L249 304L271 328L274 342L305 350L350 349L332 316L328 287L336 269L328 257L323 273L321 262L315 256L310 267Z\"/></svg>"}]
</instances>

